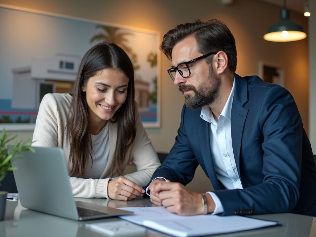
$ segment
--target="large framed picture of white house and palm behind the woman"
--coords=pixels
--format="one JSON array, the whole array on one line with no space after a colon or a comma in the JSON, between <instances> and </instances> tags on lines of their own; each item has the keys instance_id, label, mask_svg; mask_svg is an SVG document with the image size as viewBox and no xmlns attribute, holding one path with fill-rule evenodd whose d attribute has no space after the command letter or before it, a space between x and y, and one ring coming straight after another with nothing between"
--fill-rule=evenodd
<instances>
[{"instance_id":1,"label":"large framed picture of white house and palm behind the woman","mask_svg":"<svg viewBox=\"0 0 316 237\"><path fill-rule=\"evenodd\" d=\"M32 130L43 96L68 93L81 58L102 41L130 56L143 125L160 126L158 32L3 4L0 32L0 130Z\"/></svg>"}]
</instances>

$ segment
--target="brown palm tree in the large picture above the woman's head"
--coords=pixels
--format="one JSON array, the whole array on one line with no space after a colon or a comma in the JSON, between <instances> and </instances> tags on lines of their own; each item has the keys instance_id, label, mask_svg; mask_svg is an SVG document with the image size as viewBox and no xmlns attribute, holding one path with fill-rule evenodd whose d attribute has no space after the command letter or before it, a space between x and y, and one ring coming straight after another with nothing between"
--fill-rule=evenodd
<instances>
[{"instance_id":1,"label":"brown palm tree in the large picture above the woman's head","mask_svg":"<svg viewBox=\"0 0 316 237\"><path fill-rule=\"evenodd\" d=\"M127 46L128 39L126 39L126 36L133 35L133 33L121 31L117 27L104 25L97 25L96 28L101 28L104 32L94 35L91 38L90 43L94 41L105 41L109 43L114 43L120 46L130 56L134 64L134 70L140 68L140 66L137 64L137 54L133 52L131 47Z\"/></svg>"}]
</instances>

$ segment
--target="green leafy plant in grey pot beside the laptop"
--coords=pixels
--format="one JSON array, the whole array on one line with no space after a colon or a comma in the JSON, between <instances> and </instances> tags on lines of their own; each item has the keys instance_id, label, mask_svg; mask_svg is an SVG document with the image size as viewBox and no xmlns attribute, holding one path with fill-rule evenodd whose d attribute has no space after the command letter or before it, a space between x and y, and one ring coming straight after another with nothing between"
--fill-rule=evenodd
<instances>
[{"instance_id":1,"label":"green leafy plant in grey pot beside the laptop","mask_svg":"<svg viewBox=\"0 0 316 237\"><path fill-rule=\"evenodd\" d=\"M8 147L7 144L14 140L18 136L12 136L12 133L7 134L5 132L5 129L2 131L2 137L0 138L0 185L1 181L4 179L6 173L10 170L16 170L16 167L11 166L11 158L12 157L18 157L22 158L18 154L21 153L21 151L25 150L31 150L33 152L34 149L31 148L32 139L28 139L27 142L24 144L23 141L16 141L13 146L13 150L11 154L8 153ZM4 218L4 212L5 212L5 204L7 199L7 192L0 191L0 221Z\"/></svg>"}]
</instances>

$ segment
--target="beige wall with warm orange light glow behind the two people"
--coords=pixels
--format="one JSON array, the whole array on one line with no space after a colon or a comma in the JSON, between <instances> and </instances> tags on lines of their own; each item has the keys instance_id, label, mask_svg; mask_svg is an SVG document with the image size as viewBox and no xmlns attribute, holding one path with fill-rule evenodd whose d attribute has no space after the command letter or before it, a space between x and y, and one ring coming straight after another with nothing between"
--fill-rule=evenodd
<instances>
[{"instance_id":1,"label":"beige wall with warm orange light glow behind the two people","mask_svg":"<svg viewBox=\"0 0 316 237\"><path fill-rule=\"evenodd\" d=\"M263 40L266 29L279 18L281 8L255 0L235 0L224 6L220 0L0 0L2 4L37 9L108 23L161 32L197 19L224 21L236 39L237 74L257 75L258 61L285 69L285 88L293 95L308 131L308 40L275 43ZM307 31L307 18L291 12ZM9 22L8 22L9 23ZM167 74L170 61L161 57L161 128L147 129L158 152L168 152L177 134L183 105L182 94ZM24 132L23 136L32 136Z\"/></svg>"}]
</instances>

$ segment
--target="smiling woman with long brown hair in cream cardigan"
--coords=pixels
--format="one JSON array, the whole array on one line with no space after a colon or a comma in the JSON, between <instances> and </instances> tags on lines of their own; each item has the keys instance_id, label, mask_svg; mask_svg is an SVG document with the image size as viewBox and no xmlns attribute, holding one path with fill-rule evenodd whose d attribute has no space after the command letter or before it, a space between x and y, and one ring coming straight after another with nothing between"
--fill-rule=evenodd
<instances>
[{"instance_id":1,"label":"smiling woman with long brown hair in cream cardigan","mask_svg":"<svg viewBox=\"0 0 316 237\"><path fill-rule=\"evenodd\" d=\"M160 162L134 94L130 58L119 46L100 43L82 58L71 94L41 101L33 146L64 149L74 197L143 196L141 187ZM137 172L123 175L130 161Z\"/></svg>"}]
</instances>

